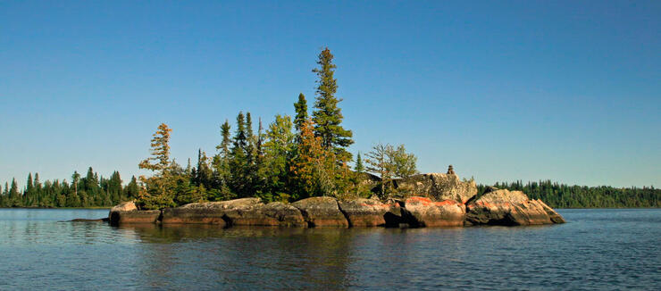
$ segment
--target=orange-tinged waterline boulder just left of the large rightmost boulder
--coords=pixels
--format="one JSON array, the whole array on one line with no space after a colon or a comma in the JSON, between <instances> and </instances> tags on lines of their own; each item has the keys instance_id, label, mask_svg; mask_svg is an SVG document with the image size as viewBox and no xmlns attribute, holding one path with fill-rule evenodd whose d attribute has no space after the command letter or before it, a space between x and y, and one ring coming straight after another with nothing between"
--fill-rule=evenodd
<instances>
[{"instance_id":1,"label":"orange-tinged waterline boulder just left of the large rightmost boulder","mask_svg":"<svg viewBox=\"0 0 661 291\"><path fill-rule=\"evenodd\" d=\"M414 196L401 204L403 219L413 228L464 225L465 205L455 200L435 202L427 197Z\"/></svg>"}]
</instances>

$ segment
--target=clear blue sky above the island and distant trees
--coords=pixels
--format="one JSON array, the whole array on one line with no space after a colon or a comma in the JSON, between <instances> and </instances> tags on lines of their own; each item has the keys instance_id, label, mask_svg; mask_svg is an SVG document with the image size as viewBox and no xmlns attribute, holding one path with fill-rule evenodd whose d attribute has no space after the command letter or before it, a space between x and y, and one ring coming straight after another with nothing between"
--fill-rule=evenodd
<instances>
[{"instance_id":1,"label":"clear blue sky above the island and distant trees","mask_svg":"<svg viewBox=\"0 0 661 291\"><path fill-rule=\"evenodd\" d=\"M312 105L325 46L353 153L661 187L661 1L1 1L0 181L127 182L161 122L178 162L213 153L238 111Z\"/></svg>"}]
</instances>

